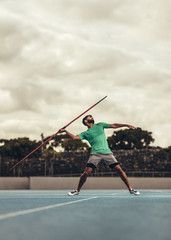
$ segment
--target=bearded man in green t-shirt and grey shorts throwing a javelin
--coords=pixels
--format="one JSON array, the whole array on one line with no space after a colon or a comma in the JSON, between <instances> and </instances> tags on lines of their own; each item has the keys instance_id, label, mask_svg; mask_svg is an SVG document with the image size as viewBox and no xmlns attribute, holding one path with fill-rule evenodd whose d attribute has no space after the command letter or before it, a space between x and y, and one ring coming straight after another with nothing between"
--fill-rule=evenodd
<instances>
[{"instance_id":1,"label":"bearded man in green t-shirt and grey shorts throwing a javelin","mask_svg":"<svg viewBox=\"0 0 171 240\"><path fill-rule=\"evenodd\" d=\"M134 195L139 195L140 193L137 190L134 190L125 174L125 172L120 167L118 161L115 159L113 153L111 152L108 142L106 140L106 136L104 133L104 128L120 128L120 127L128 127L128 128L135 128L128 124L107 124L107 123L97 123L94 124L94 119L91 115L87 115L83 118L83 124L88 127L88 130L78 134L77 136L73 135L72 133L68 132L65 129L60 129L59 132L65 132L70 136L73 140L83 140L86 139L91 145L91 153L90 158L87 162L87 166L85 168L84 173L80 177L80 181L78 184L77 190L69 192L69 196L78 195L83 184L85 183L88 175L92 172L93 169L97 167L100 161L105 161L105 163L111 168L115 169L125 185L127 186L129 192Z\"/></svg>"}]
</instances>

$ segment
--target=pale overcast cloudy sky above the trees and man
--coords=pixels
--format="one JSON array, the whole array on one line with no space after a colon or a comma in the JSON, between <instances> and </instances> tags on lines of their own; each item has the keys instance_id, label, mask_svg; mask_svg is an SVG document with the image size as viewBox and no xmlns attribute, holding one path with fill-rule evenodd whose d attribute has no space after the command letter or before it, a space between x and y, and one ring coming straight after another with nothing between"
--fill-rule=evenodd
<instances>
[{"instance_id":1,"label":"pale overcast cloudy sky above the trees and man","mask_svg":"<svg viewBox=\"0 0 171 240\"><path fill-rule=\"evenodd\" d=\"M96 122L171 145L170 13L170 0L0 0L0 138L52 135L108 95Z\"/></svg>"}]
</instances>

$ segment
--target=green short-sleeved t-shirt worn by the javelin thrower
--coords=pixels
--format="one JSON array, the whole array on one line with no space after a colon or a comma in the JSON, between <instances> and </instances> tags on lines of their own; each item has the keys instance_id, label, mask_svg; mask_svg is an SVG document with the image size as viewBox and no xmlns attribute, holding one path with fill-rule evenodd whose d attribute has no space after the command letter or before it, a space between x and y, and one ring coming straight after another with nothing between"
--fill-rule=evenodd
<instances>
[{"instance_id":1,"label":"green short-sleeved t-shirt worn by the javelin thrower","mask_svg":"<svg viewBox=\"0 0 171 240\"><path fill-rule=\"evenodd\" d=\"M87 131L78 134L81 140L86 139L91 145L91 153L111 153L104 128L109 128L108 123L97 123Z\"/></svg>"}]
</instances>

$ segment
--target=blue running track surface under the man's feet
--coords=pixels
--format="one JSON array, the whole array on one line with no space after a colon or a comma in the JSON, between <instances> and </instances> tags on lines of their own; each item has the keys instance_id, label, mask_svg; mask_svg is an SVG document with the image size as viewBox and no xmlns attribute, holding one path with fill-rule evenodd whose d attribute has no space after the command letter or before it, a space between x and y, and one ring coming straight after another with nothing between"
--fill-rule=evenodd
<instances>
[{"instance_id":1,"label":"blue running track surface under the man's feet","mask_svg":"<svg viewBox=\"0 0 171 240\"><path fill-rule=\"evenodd\" d=\"M171 190L0 191L1 240L170 240Z\"/></svg>"}]
</instances>

